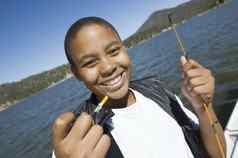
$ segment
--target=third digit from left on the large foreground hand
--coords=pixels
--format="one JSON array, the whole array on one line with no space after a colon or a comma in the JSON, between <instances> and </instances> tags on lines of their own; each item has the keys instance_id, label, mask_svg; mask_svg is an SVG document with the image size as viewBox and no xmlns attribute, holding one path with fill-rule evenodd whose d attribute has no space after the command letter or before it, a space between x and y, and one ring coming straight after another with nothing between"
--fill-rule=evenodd
<instances>
[{"instance_id":1,"label":"third digit from left on the large foreground hand","mask_svg":"<svg viewBox=\"0 0 238 158\"><path fill-rule=\"evenodd\" d=\"M99 125L94 125L84 137L83 141L85 142L85 144L87 144L88 148L92 150L96 146L102 135L103 128Z\"/></svg>"}]
</instances>

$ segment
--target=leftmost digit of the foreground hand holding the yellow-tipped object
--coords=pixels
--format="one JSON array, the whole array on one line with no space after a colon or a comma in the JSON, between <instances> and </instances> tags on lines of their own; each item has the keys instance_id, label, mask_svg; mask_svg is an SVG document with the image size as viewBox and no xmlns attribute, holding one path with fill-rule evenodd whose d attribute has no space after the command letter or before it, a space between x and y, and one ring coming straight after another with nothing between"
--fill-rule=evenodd
<instances>
[{"instance_id":1,"label":"leftmost digit of the foreground hand holding the yellow-tipped object","mask_svg":"<svg viewBox=\"0 0 238 158\"><path fill-rule=\"evenodd\" d=\"M55 120L52 128L54 144L58 144L67 136L70 124L74 120L75 116L72 112L63 113Z\"/></svg>"}]
</instances>

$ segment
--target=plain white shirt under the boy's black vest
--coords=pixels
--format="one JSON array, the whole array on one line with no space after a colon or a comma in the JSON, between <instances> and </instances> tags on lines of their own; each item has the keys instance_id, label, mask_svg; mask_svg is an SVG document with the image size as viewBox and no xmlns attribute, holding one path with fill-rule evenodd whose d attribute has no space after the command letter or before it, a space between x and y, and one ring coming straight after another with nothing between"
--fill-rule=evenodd
<instances>
[{"instance_id":1,"label":"plain white shirt under the boy's black vest","mask_svg":"<svg viewBox=\"0 0 238 158\"><path fill-rule=\"evenodd\" d=\"M193 158L177 122L154 101L133 90L136 102L113 109L112 136L125 158ZM181 101L176 97L181 104ZM194 114L181 107L196 123Z\"/></svg>"}]
</instances>

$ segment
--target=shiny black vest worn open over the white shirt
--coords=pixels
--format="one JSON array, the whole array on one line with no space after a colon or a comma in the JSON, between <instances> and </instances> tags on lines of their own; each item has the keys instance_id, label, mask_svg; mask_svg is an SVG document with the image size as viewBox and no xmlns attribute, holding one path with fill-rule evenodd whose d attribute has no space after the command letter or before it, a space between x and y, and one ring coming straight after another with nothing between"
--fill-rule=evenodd
<instances>
[{"instance_id":1,"label":"shiny black vest worn open over the white shirt","mask_svg":"<svg viewBox=\"0 0 238 158\"><path fill-rule=\"evenodd\" d=\"M209 158L205 146L202 143L199 126L185 114L174 94L165 88L156 76L131 81L130 87L155 101L164 111L177 121L182 128L186 142L188 143L194 158ZM107 153L107 158L123 158L120 148L110 133L110 126L106 124L106 121L110 119L114 113L110 109L103 108L100 113L95 115L93 111L96 105L96 96L92 94L86 102L81 104L80 107L74 111L74 113L79 115L81 112L87 112L93 116L96 123L103 126L105 133L111 137L112 142Z\"/></svg>"}]
</instances>

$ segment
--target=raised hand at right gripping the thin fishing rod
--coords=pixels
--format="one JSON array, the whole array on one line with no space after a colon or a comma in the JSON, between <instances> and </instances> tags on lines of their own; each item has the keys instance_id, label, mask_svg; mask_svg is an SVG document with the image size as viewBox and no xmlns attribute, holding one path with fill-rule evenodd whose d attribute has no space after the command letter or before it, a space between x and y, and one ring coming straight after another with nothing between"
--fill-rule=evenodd
<instances>
[{"instance_id":1,"label":"raised hand at right gripping the thin fishing rod","mask_svg":"<svg viewBox=\"0 0 238 158\"><path fill-rule=\"evenodd\" d=\"M213 100L215 79L209 69L196 61L181 57L183 95L193 105L195 112L202 108L201 97L210 104Z\"/></svg>"}]
</instances>

